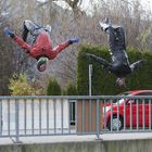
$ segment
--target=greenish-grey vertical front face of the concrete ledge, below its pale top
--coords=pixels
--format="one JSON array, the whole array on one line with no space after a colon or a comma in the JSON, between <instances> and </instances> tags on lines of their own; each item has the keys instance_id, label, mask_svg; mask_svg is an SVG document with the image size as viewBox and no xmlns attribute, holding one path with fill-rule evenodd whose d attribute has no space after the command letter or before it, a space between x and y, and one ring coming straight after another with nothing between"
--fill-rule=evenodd
<instances>
[{"instance_id":1,"label":"greenish-grey vertical front face of the concrete ledge, below its pale top","mask_svg":"<svg viewBox=\"0 0 152 152\"><path fill-rule=\"evenodd\" d=\"M84 141L1 145L0 152L151 152L152 140Z\"/></svg>"}]
</instances>

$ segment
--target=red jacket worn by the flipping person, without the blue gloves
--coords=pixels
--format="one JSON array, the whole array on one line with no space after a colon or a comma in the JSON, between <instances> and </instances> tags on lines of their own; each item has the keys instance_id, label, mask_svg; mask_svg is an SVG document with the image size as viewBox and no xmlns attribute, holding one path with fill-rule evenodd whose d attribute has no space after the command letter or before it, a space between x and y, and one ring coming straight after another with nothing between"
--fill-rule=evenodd
<instances>
[{"instance_id":1,"label":"red jacket worn by the flipping person, without the blue gloves","mask_svg":"<svg viewBox=\"0 0 152 152\"><path fill-rule=\"evenodd\" d=\"M22 49L27 50L28 54L35 59L47 56L49 60L53 60L62 50L71 45L69 41L65 41L52 49L52 41L47 31L39 34L33 46L28 45L16 35L13 39Z\"/></svg>"}]
</instances>

